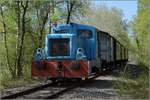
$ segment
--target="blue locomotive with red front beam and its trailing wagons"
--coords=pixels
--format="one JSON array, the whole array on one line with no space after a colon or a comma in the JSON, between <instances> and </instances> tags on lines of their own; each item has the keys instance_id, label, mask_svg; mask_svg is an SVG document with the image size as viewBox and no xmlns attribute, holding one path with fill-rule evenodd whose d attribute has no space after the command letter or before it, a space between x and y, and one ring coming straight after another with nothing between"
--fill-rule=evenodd
<instances>
[{"instance_id":1,"label":"blue locomotive with red front beam and its trailing wagons","mask_svg":"<svg viewBox=\"0 0 150 100\"><path fill-rule=\"evenodd\" d=\"M32 61L33 77L89 78L128 60L127 49L114 37L88 25L57 25L45 40Z\"/></svg>"}]
</instances>

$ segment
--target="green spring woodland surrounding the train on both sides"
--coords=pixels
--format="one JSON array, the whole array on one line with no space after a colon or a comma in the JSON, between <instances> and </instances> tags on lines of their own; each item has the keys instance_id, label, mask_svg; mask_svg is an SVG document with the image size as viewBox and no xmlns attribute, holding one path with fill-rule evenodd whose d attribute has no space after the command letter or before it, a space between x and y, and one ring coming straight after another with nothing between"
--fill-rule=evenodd
<instances>
[{"instance_id":1,"label":"green spring woodland surrounding the train on both sides","mask_svg":"<svg viewBox=\"0 0 150 100\"><path fill-rule=\"evenodd\" d=\"M77 22L97 27L119 40L129 50L130 60L143 68L135 85L119 86L133 95L148 97L150 64L150 1L138 0L134 20L127 22L118 8L106 5L94 9L91 1L0 1L0 88L33 82L31 62L53 23ZM129 36L132 34L132 37ZM128 88L128 89L126 89ZM139 91L137 94L135 91ZM145 93L139 95L139 93ZM126 93L126 92L123 92Z\"/></svg>"}]
</instances>

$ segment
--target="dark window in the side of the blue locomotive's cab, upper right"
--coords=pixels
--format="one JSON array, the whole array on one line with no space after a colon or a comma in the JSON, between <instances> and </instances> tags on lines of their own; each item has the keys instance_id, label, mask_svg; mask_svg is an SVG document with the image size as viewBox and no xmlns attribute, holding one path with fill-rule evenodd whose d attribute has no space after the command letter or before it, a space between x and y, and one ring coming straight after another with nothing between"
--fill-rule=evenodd
<instances>
[{"instance_id":1,"label":"dark window in the side of the blue locomotive's cab, upper right","mask_svg":"<svg viewBox=\"0 0 150 100\"><path fill-rule=\"evenodd\" d=\"M91 39L92 38L92 31L79 29L77 31L77 36L78 36L78 38Z\"/></svg>"}]
</instances>

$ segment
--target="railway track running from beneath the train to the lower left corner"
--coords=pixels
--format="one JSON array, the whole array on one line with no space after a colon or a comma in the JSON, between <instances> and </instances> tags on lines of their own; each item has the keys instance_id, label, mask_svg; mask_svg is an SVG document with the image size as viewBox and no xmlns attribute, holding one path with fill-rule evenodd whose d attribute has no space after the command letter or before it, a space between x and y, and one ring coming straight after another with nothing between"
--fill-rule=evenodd
<instances>
[{"instance_id":1,"label":"railway track running from beneath the train to the lower left corner","mask_svg":"<svg viewBox=\"0 0 150 100\"><path fill-rule=\"evenodd\" d=\"M55 83L47 83L21 92L3 96L1 97L1 99L17 99L17 98L18 99L56 99L60 95L62 95L63 93L71 89L92 82L91 80L98 76L99 75L93 75L90 79L84 81L76 81L76 82L61 81Z\"/></svg>"}]
</instances>

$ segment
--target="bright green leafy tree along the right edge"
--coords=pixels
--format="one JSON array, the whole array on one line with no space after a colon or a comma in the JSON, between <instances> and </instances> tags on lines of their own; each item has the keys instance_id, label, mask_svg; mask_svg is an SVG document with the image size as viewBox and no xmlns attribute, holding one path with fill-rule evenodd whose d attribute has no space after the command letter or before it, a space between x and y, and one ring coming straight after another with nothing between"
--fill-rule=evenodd
<instances>
[{"instance_id":1,"label":"bright green leafy tree along the right edge","mask_svg":"<svg viewBox=\"0 0 150 100\"><path fill-rule=\"evenodd\" d=\"M138 14L133 22L138 62L148 66L150 59L150 1L138 1Z\"/></svg>"}]
</instances>

